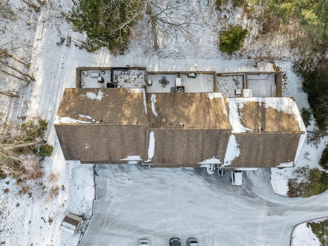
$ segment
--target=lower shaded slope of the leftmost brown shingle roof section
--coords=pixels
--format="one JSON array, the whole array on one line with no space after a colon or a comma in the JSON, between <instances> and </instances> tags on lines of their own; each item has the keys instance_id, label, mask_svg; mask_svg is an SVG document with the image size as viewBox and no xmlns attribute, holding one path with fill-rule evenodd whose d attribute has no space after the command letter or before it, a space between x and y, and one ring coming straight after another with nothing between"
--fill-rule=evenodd
<instances>
[{"instance_id":1,"label":"lower shaded slope of the leftmost brown shingle roof section","mask_svg":"<svg viewBox=\"0 0 328 246\"><path fill-rule=\"evenodd\" d=\"M147 160L148 126L106 124L55 124L66 160L84 163L127 163L128 156Z\"/></svg>"}]
</instances>

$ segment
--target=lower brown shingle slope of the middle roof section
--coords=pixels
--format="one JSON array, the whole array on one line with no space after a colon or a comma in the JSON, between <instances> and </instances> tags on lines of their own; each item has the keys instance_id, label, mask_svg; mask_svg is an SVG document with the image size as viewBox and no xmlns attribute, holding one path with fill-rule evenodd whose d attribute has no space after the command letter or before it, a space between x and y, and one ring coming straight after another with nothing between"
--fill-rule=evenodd
<instances>
[{"instance_id":1,"label":"lower brown shingle slope of the middle roof section","mask_svg":"<svg viewBox=\"0 0 328 246\"><path fill-rule=\"evenodd\" d=\"M230 130L153 130L155 155L149 164L184 166L210 158L223 162ZM199 165L198 165L199 166Z\"/></svg>"}]
</instances>

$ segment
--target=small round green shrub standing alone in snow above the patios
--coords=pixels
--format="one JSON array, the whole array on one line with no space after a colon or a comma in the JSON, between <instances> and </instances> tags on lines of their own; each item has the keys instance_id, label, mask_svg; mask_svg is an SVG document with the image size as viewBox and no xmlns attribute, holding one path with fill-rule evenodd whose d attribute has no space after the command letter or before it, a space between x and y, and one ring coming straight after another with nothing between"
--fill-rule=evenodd
<instances>
[{"instance_id":1,"label":"small round green shrub standing alone in snow above the patios","mask_svg":"<svg viewBox=\"0 0 328 246\"><path fill-rule=\"evenodd\" d=\"M220 33L220 51L232 55L242 47L247 33L247 29L242 29L239 25L230 25L228 30Z\"/></svg>"}]
</instances>

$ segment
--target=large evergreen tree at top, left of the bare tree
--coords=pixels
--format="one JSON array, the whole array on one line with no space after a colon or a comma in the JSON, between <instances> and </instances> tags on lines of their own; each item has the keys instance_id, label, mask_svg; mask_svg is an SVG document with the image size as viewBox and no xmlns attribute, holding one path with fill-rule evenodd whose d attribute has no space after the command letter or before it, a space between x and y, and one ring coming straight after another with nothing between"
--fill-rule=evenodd
<instances>
[{"instance_id":1,"label":"large evergreen tree at top, left of the bare tree","mask_svg":"<svg viewBox=\"0 0 328 246\"><path fill-rule=\"evenodd\" d=\"M106 47L116 54L126 49L144 6L143 0L79 0L64 16L74 31L86 33L84 45L89 52Z\"/></svg>"}]
</instances>

